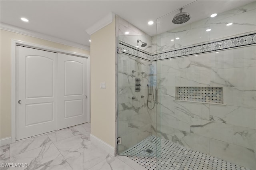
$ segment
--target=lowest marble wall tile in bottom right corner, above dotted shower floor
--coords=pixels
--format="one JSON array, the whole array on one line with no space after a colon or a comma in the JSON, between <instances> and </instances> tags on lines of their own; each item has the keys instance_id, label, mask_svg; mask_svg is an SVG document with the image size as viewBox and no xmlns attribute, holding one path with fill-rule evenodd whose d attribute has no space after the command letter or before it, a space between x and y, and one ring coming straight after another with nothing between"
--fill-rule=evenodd
<instances>
[{"instance_id":1,"label":"lowest marble wall tile in bottom right corner, above dotted shower floor","mask_svg":"<svg viewBox=\"0 0 256 170\"><path fill-rule=\"evenodd\" d=\"M210 155L252 170L256 168L254 151L235 144L210 139Z\"/></svg>"}]
</instances>

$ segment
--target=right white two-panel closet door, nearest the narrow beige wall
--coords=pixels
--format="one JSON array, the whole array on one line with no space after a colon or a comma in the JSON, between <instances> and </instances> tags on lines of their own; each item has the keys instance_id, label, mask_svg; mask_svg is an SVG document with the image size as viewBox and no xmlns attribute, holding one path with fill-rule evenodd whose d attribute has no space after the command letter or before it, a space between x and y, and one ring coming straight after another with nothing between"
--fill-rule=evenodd
<instances>
[{"instance_id":1,"label":"right white two-panel closet door, nearest the narrow beige wall","mask_svg":"<svg viewBox=\"0 0 256 170\"><path fill-rule=\"evenodd\" d=\"M58 53L58 129L88 122L87 62Z\"/></svg>"}]
</instances>

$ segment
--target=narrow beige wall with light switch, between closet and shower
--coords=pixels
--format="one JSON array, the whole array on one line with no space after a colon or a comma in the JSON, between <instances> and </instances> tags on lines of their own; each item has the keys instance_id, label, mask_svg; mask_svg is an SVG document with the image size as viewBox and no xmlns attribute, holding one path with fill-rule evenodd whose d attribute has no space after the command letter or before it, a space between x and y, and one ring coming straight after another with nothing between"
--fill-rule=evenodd
<instances>
[{"instance_id":1,"label":"narrow beige wall with light switch, between closet and shower","mask_svg":"<svg viewBox=\"0 0 256 170\"><path fill-rule=\"evenodd\" d=\"M91 35L90 52L91 134L115 147L115 20Z\"/></svg>"}]
</instances>

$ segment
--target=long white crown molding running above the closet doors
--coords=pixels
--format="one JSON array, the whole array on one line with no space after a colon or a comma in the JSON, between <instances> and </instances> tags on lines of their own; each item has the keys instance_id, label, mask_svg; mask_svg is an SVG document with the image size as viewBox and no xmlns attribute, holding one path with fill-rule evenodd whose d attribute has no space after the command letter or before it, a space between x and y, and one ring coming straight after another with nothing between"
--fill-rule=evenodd
<instances>
[{"instance_id":1,"label":"long white crown molding running above the closet doors","mask_svg":"<svg viewBox=\"0 0 256 170\"><path fill-rule=\"evenodd\" d=\"M48 36L46 34L42 34L42 33L39 33L39 32L34 32L34 31L31 31L31 30L16 27L16 26L13 26L13 25L10 25L10 24L6 24L6 23L1 22L0 23L0 28L2 30L15 32L15 33L18 33L18 34L31 36L31 37L34 37L34 38L40 38L40 39L43 39L43 40L48 40L48 41L51 41L51 42L61 43L61 44L64 44L64 45L68 45L68 46L72 46L72 47L76 47L76 48L80 48L80 49L90 51L90 47L87 46L87 45L83 45L83 44L75 43L75 42L70 42L68 40L63 40L61 38L56 38L56 37L53 37L53 36Z\"/></svg>"}]
</instances>

